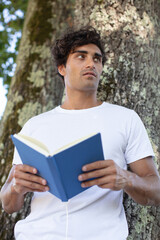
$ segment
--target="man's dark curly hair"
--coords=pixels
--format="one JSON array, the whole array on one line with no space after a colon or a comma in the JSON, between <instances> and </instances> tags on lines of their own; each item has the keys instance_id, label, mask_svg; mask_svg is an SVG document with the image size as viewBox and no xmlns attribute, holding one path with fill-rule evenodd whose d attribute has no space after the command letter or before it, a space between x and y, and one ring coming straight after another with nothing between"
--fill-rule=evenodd
<instances>
[{"instance_id":1,"label":"man's dark curly hair","mask_svg":"<svg viewBox=\"0 0 160 240\"><path fill-rule=\"evenodd\" d=\"M68 55L74 51L76 47L90 43L95 44L101 50L102 64L104 65L106 57L104 43L100 38L100 34L95 28L86 26L79 30L69 28L61 38L56 40L52 48L52 55L57 67L62 64L64 66L66 65Z\"/></svg>"}]
</instances>

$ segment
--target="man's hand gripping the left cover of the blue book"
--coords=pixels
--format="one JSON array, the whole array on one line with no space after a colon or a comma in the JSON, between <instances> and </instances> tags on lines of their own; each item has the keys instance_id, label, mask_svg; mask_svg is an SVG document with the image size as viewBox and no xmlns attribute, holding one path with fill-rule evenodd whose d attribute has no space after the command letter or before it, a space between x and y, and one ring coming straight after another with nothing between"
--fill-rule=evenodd
<instances>
[{"instance_id":1,"label":"man's hand gripping the left cover of the blue book","mask_svg":"<svg viewBox=\"0 0 160 240\"><path fill-rule=\"evenodd\" d=\"M40 176L37 176L37 169L25 165L18 164L12 168L12 190L18 194L26 194L27 192L45 192L49 190L46 186L47 182Z\"/></svg>"}]
</instances>

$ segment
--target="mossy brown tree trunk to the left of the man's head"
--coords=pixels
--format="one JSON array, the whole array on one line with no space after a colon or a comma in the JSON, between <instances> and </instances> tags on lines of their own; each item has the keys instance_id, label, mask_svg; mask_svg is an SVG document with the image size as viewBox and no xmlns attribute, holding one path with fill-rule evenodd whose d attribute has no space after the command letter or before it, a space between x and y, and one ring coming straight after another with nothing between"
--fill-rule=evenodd
<instances>
[{"instance_id":1,"label":"mossy brown tree trunk to the left of the man's head","mask_svg":"<svg viewBox=\"0 0 160 240\"><path fill-rule=\"evenodd\" d=\"M32 116L52 109L61 102L63 84L52 62L55 37L72 24L73 1L30 0L17 57L17 67L8 93L0 125L0 185L12 164L10 135L18 132ZM13 227L29 212L30 196L19 213L6 214L0 208L0 239L13 239Z\"/></svg>"}]
</instances>

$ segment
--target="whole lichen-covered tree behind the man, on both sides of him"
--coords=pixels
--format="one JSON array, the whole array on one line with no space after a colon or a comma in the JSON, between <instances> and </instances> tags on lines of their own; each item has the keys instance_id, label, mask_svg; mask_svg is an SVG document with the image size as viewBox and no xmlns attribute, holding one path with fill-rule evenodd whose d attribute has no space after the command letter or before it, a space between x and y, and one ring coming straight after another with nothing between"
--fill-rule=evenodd
<instances>
[{"instance_id":1,"label":"whole lichen-covered tree behind the man, on both sides of him","mask_svg":"<svg viewBox=\"0 0 160 240\"><path fill-rule=\"evenodd\" d=\"M102 100L134 109L152 139L156 164L160 166L160 1L159 0L77 0L30 1L17 68L1 121L1 184L11 166L11 133L20 130L28 118L61 102L63 86L51 62L50 48L56 36L73 22L96 27L106 43L98 96ZM73 9L74 8L74 9ZM59 30L60 29L60 30ZM118 117L118 116L117 116ZM11 239L4 229L28 213L28 199L19 214L1 210L0 236ZM128 239L158 240L160 208L142 207L125 195L130 235Z\"/></svg>"}]
</instances>

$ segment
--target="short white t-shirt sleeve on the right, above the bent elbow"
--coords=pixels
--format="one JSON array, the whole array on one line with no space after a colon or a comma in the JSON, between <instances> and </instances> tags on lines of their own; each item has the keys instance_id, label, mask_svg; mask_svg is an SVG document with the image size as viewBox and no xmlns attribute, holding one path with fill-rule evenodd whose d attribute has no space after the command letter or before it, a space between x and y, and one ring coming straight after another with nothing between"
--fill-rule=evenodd
<instances>
[{"instance_id":1,"label":"short white t-shirt sleeve on the right, above the bent elbow","mask_svg":"<svg viewBox=\"0 0 160 240\"><path fill-rule=\"evenodd\" d=\"M154 156L144 124L134 111L132 111L130 128L128 129L127 135L128 139L125 151L127 164L148 156Z\"/></svg>"}]
</instances>

